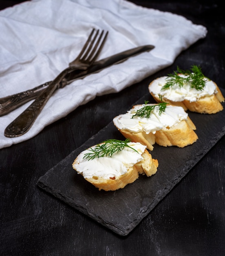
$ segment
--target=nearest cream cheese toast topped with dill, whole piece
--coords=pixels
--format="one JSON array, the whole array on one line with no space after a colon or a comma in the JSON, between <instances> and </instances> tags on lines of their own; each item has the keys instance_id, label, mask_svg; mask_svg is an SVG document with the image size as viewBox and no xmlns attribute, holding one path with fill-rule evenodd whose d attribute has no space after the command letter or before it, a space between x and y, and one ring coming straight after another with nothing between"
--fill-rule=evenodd
<instances>
[{"instance_id":1,"label":"nearest cream cheese toast topped with dill, whole piece","mask_svg":"<svg viewBox=\"0 0 225 256\"><path fill-rule=\"evenodd\" d=\"M137 180L139 174L155 174L158 161L140 143L109 139L82 151L73 168L99 190L114 191Z\"/></svg>"}]
</instances>

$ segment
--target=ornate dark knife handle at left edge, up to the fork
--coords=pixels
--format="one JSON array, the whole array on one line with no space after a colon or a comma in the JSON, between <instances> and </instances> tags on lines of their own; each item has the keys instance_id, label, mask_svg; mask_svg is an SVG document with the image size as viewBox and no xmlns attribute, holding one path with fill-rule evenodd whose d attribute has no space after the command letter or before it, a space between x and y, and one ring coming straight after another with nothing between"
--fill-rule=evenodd
<instances>
[{"instance_id":1,"label":"ornate dark knife handle at left edge, up to the fork","mask_svg":"<svg viewBox=\"0 0 225 256\"><path fill-rule=\"evenodd\" d=\"M22 106L24 103L35 99L49 86L49 83L46 82L33 89L0 98L0 117Z\"/></svg>"}]
</instances>

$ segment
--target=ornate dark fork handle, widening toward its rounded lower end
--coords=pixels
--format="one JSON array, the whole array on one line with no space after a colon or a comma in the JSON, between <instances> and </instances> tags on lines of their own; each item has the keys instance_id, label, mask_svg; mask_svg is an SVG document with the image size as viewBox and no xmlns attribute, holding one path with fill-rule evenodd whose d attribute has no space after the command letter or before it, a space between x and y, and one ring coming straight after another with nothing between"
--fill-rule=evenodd
<instances>
[{"instance_id":1,"label":"ornate dark fork handle, widening toward its rounded lower end","mask_svg":"<svg viewBox=\"0 0 225 256\"><path fill-rule=\"evenodd\" d=\"M31 105L24 110L14 121L5 128L6 137L18 137L26 133L44 108L53 92L57 89L62 79L68 73L68 70L61 72L42 92Z\"/></svg>"}]
</instances>

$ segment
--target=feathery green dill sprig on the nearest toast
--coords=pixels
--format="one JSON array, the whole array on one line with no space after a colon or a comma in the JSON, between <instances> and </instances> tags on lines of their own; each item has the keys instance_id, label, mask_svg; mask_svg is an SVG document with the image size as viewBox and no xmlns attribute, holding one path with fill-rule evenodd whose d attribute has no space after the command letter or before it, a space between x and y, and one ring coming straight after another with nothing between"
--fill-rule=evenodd
<instances>
[{"instance_id":1,"label":"feathery green dill sprig on the nearest toast","mask_svg":"<svg viewBox=\"0 0 225 256\"><path fill-rule=\"evenodd\" d=\"M88 159L89 161L98 157L112 157L114 153L120 152L125 147L132 148L128 145L130 141L130 139L126 139L125 141L118 139L107 139L92 148L88 148L90 153L84 154L84 158ZM135 150L135 148L132 148L132 150ZM137 152L137 150L135 151Z\"/></svg>"}]
</instances>

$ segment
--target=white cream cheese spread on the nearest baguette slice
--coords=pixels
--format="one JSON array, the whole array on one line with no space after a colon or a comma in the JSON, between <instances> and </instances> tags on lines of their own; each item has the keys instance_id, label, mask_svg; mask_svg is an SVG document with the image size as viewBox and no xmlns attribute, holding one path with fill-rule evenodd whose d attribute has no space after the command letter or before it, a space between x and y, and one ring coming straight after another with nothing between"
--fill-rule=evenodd
<instances>
[{"instance_id":1,"label":"white cream cheese spread on the nearest baguette slice","mask_svg":"<svg viewBox=\"0 0 225 256\"><path fill-rule=\"evenodd\" d=\"M78 155L73 167L84 178L92 178L93 176L103 179L118 177L143 159L141 155L146 149L146 146L143 146L139 142L129 142L128 145L137 150L137 152L132 148L124 147L120 152L114 153L112 157L99 157L92 160L84 158L86 153L90 153L86 149Z\"/></svg>"}]
</instances>

